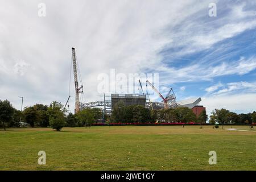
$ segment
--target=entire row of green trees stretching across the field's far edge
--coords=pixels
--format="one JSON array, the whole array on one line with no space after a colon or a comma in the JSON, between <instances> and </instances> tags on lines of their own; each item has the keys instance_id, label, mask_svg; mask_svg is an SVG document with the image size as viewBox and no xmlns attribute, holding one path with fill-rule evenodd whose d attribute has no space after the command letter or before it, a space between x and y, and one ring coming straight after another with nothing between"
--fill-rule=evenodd
<instances>
[{"instance_id":1,"label":"entire row of green trees stretching across the field's far edge","mask_svg":"<svg viewBox=\"0 0 256 182\"><path fill-rule=\"evenodd\" d=\"M176 109L149 110L141 105L125 106L118 102L112 110L111 117L104 114L100 108L85 108L77 114L69 113L60 102L52 101L51 104L35 104L25 107L23 111L16 110L9 101L0 100L0 127L49 127L60 130L62 127L91 126L93 123L101 122L121 123L176 123L197 122L205 123L208 115L203 110L197 117L188 107L177 107ZM214 124L251 124L256 122L256 112L247 114L236 114L226 109L214 109L209 117L209 122Z\"/></svg>"}]
</instances>

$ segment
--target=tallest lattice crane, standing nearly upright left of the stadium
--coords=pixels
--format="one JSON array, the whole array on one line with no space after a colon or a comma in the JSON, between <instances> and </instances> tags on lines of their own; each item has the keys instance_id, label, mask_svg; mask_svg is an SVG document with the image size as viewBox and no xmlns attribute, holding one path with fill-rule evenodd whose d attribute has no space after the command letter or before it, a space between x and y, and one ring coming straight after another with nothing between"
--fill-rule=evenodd
<instances>
[{"instance_id":1,"label":"tallest lattice crane, standing nearly upright left of the stadium","mask_svg":"<svg viewBox=\"0 0 256 182\"><path fill-rule=\"evenodd\" d=\"M80 110L79 93L83 93L83 86L81 85L79 87L79 82L77 80L76 51L75 51L75 48L73 47L72 47L72 60L73 60L73 72L74 72L74 81L75 81L75 89L76 89L75 113L78 113Z\"/></svg>"}]
</instances>

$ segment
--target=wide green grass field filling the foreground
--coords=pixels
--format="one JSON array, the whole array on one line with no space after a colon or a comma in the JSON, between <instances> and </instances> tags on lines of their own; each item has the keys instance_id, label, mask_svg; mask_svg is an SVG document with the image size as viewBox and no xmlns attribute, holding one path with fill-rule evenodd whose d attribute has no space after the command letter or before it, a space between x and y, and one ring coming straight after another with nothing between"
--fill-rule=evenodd
<instances>
[{"instance_id":1,"label":"wide green grass field filling the foreground","mask_svg":"<svg viewBox=\"0 0 256 182\"><path fill-rule=\"evenodd\" d=\"M0 129L0 170L256 170L255 129L199 127ZM46 165L38 164L40 150ZM212 150L216 165L208 163Z\"/></svg>"}]
</instances>

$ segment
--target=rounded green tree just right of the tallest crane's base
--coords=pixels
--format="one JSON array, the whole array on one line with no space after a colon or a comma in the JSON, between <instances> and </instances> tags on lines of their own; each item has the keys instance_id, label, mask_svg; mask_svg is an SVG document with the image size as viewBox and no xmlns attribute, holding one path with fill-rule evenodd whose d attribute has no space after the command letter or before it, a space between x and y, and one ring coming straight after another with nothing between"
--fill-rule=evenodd
<instances>
[{"instance_id":1,"label":"rounded green tree just right of the tallest crane's base","mask_svg":"<svg viewBox=\"0 0 256 182\"><path fill-rule=\"evenodd\" d=\"M92 123L94 121L92 111L89 108L80 110L79 113L77 113L76 115L77 115L76 118L85 127L92 125Z\"/></svg>"}]
</instances>

